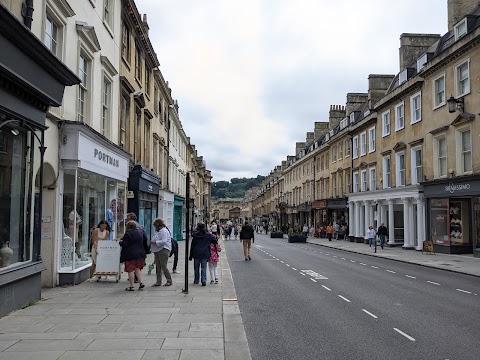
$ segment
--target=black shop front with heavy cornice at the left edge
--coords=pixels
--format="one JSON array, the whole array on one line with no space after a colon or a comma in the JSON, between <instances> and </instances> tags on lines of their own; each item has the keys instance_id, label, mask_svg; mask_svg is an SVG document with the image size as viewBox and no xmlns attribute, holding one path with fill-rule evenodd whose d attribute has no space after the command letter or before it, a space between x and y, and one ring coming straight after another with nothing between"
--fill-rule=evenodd
<instances>
[{"instance_id":1,"label":"black shop front with heavy cornice at the left edge","mask_svg":"<svg viewBox=\"0 0 480 360\"><path fill-rule=\"evenodd\" d=\"M2 316L41 298L45 115L79 79L3 5L0 49Z\"/></svg>"}]
</instances>

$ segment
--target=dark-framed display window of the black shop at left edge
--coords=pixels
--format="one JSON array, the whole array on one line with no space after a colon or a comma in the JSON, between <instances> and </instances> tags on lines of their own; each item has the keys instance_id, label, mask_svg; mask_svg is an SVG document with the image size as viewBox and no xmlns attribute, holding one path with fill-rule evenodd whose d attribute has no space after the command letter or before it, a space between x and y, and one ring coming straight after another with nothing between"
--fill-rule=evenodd
<instances>
[{"instance_id":1,"label":"dark-framed display window of the black shop at left edge","mask_svg":"<svg viewBox=\"0 0 480 360\"><path fill-rule=\"evenodd\" d=\"M34 222L40 221L33 196L32 166L39 153L34 142L30 131L0 130L0 269L32 259Z\"/></svg>"}]
</instances>

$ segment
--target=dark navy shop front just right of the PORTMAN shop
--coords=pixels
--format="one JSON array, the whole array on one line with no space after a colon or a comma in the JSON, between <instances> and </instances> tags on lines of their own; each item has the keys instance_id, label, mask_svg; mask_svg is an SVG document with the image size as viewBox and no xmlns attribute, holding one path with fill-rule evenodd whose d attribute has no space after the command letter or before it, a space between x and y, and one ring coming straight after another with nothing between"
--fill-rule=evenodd
<instances>
[{"instance_id":1,"label":"dark navy shop front just right of the PORTMAN shop","mask_svg":"<svg viewBox=\"0 0 480 360\"><path fill-rule=\"evenodd\" d=\"M128 199L128 212L137 215L138 223L145 228L150 242L155 233L153 220L157 218L160 176L135 165L128 177L128 190L133 192L133 197Z\"/></svg>"}]
</instances>

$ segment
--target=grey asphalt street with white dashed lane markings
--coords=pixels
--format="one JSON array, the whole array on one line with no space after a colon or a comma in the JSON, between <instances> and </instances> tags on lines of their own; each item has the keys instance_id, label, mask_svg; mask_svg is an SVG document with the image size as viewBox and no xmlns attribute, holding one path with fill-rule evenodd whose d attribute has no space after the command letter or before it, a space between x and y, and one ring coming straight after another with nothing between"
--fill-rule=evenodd
<instances>
[{"instance_id":1,"label":"grey asphalt street with white dashed lane markings","mask_svg":"<svg viewBox=\"0 0 480 360\"><path fill-rule=\"evenodd\" d=\"M478 278L255 236L225 241L252 359L478 359Z\"/></svg>"}]
</instances>

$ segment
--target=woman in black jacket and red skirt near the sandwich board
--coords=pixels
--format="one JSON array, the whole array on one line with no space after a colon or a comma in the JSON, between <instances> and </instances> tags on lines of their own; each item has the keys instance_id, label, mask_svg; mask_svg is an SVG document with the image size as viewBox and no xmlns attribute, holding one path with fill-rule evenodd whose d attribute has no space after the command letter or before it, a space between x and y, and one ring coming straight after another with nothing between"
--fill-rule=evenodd
<instances>
[{"instance_id":1,"label":"woman in black jacket and red skirt near the sandwich board","mask_svg":"<svg viewBox=\"0 0 480 360\"><path fill-rule=\"evenodd\" d=\"M140 285L138 289L143 289L145 285L142 283L142 269L145 266L145 258L147 257L147 236L137 228L135 221L128 221L125 227L125 234L120 241L122 247L120 253L120 262L123 262L125 272L128 273L128 281L130 286L126 291L135 291L134 275L137 276Z\"/></svg>"}]
</instances>

